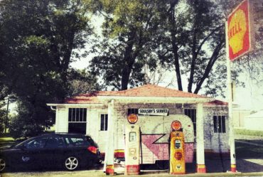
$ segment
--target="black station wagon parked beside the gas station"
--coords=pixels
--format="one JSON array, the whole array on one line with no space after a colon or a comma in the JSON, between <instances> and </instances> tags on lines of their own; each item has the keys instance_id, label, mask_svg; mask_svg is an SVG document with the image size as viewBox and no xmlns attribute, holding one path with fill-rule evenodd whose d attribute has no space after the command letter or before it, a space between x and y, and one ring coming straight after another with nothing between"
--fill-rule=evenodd
<instances>
[{"instance_id":1,"label":"black station wagon parked beside the gas station","mask_svg":"<svg viewBox=\"0 0 263 177\"><path fill-rule=\"evenodd\" d=\"M61 166L73 171L100 161L100 151L84 134L43 134L0 151L0 171L6 166Z\"/></svg>"}]
</instances>

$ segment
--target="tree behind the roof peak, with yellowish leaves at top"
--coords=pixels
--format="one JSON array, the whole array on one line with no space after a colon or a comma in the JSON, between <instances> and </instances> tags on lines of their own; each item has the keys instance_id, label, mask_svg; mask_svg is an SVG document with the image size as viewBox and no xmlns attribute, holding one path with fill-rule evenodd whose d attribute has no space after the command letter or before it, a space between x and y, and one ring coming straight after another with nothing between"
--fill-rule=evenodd
<instances>
[{"instance_id":1,"label":"tree behind the roof peak, with yellowish leaves at top","mask_svg":"<svg viewBox=\"0 0 263 177\"><path fill-rule=\"evenodd\" d=\"M158 33L156 1L86 1L91 10L104 17L102 41L93 48L92 73L117 90L138 86L144 80L144 65L156 67L152 36Z\"/></svg>"}]
</instances>

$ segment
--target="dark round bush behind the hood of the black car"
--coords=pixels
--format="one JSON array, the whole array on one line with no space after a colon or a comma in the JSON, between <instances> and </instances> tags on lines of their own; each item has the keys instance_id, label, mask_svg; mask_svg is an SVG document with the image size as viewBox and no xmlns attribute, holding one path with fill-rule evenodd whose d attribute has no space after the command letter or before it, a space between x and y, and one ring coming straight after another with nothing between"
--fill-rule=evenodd
<instances>
[{"instance_id":1,"label":"dark round bush behind the hood of the black car","mask_svg":"<svg viewBox=\"0 0 263 177\"><path fill-rule=\"evenodd\" d=\"M44 127L40 124L21 116L14 117L9 125L9 133L14 139L36 136L41 134L43 130Z\"/></svg>"}]
</instances>

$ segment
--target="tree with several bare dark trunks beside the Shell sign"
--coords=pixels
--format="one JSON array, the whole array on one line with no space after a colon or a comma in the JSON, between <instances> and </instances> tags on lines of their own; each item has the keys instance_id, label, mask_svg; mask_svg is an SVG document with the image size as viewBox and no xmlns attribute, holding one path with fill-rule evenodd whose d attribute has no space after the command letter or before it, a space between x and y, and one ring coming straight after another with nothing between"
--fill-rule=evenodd
<instances>
[{"instance_id":1,"label":"tree with several bare dark trunks beside the Shell sign","mask_svg":"<svg viewBox=\"0 0 263 177\"><path fill-rule=\"evenodd\" d=\"M209 88L216 76L211 73L218 70L225 73L225 67L213 71L216 61L224 60L225 22L222 11L208 0L169 1L166 6L160 6L159 11L165 19L161 25L158 55L163 65L174 66L178 90L183 90L182 75L188 76L188 92L197 94L207 79L206 88ZM222 80L218 79L217 82ZM218 89L222 85L218 85ZM212 90L208 89L208 92ZM213 95L216 95L216 90Z\"/></svg>"}]
</instances>

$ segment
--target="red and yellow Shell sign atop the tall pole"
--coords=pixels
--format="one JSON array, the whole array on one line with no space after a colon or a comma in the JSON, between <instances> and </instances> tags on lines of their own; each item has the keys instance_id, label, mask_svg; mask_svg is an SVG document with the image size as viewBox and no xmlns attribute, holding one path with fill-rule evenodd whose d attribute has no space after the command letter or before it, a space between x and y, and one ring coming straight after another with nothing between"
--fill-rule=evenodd
<instances>
[{"instance_id":1,"label":"red and yellow Shell sign atop the tall pole","mask_svg":"<svg viewBox=\"0 0 263 177\"><path fill-rule=\"evenodd\" d=\"M227 19L229 58L235 60L251 50L249 26L249 1L245 0Z\"/></svg>"}]
</instances>

